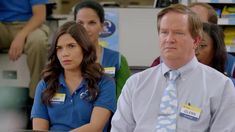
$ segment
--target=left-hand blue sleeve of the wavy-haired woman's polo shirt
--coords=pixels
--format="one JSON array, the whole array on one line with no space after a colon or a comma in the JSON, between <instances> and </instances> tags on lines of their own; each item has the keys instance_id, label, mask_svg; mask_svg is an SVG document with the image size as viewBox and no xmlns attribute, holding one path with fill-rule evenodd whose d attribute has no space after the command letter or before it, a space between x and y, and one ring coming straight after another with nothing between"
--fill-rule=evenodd
<instances>
[{"instance_id":1,"label":"left-hand blue sleeve of the wavy-haired woman's polo shirt","mask_svg":"<svg viewBox=\"0 0 235 132\"><path fill-rule=\"evenodd\" d=\"M46 83L41 80L36 88L34 103L31 111L31 118L43 118L49 121L47 106L42 103L42 92L46 88Z\"/></svg>"}]
</instances>

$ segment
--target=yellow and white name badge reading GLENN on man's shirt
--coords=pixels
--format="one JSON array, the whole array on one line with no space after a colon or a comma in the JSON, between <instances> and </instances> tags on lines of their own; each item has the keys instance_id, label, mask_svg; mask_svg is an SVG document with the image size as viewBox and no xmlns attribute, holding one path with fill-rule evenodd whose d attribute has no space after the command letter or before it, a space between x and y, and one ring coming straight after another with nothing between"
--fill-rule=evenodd
<instances>
[{"instance_id":1,"label":"yellow and white name badge reading GLENN on man's shirt","mask_svg":"<svg viewBox=\"0 0 235 132\"><path fill-rule=\"evenodd\" d=\"M197 121L199 120L201 109L192 105L184 104L180 110L180 116L185 117L190 120Z\"/></svg>"}]
</instances>

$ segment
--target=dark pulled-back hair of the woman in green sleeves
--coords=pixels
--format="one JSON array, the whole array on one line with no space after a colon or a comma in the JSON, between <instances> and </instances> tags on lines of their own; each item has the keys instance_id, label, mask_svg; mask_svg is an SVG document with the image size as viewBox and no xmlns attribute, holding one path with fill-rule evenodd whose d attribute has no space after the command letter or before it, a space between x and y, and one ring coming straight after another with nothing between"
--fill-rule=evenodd
<instances>
[{"instance_id":1,"label":"dark pulled-back hair of the woman in green sleeves","mask_svg":"<svg viewBox=\"0 0 235 132\"><path fill-rule=\"evenodd\" d=\"M104 8L96 1L94 0L83 0L82 2L78 3L75 6L74 9L74 20L76 21L77 19L77 13L80 9L83 8L91 8L94 10L97 14L97 16L100 18L100 22L104 23L105 16L104 16Z\"/></svg>"}]
</instances>

